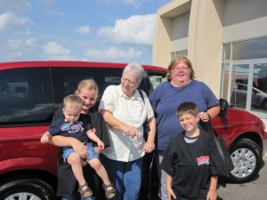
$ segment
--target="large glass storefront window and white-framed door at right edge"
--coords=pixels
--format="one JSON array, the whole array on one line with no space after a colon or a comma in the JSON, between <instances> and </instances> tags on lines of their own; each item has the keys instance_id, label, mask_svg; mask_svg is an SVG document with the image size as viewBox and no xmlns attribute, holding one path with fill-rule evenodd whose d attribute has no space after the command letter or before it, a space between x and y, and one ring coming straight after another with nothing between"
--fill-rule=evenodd
<instances>
[{"instance_id":1,"label":"large glass storefront window and white-framed door at right edge","mask_svg":"<svg viewBox=\"0 0 267 200\"><path fill-rule=\"evenodd\" d=\"M223 44L221 97L267 118L267 37Z\"/></svg>"}]
</instances>

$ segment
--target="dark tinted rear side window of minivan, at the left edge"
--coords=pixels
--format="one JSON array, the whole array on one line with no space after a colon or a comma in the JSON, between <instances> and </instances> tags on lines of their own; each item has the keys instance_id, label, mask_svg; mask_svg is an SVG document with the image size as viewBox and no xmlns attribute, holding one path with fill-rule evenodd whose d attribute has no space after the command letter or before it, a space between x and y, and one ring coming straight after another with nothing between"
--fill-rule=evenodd
<instances>
[{"instance_id":1,"label":"dark tinted rear side window of minivan, at the left edge","mask_svg":"<svg viewBox=\"0 0 267 200\"><path fill-rule=\"evenodd\" d=\"M49 68L0 71L0 124L44 124L53 116Z\"/></svg>"}]
</instances>

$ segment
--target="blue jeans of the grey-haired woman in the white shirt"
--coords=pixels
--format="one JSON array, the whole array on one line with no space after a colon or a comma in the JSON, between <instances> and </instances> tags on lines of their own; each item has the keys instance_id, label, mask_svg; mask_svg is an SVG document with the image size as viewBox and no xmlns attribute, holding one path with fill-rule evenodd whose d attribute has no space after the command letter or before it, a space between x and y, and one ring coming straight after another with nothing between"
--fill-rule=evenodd
<instances>
[{"instance_id":1,"label":"blue jeans of the grey-haired woman in the white shirt","mask_svg":"<svg viewBox=\"0 0 267 200\"><path fill-rule=\"evenodd\" d=\"M121 162L101 156L110 181L117 189L113 200L137 200L142 182L142 158Z\"/></svg>"}]
</instances>

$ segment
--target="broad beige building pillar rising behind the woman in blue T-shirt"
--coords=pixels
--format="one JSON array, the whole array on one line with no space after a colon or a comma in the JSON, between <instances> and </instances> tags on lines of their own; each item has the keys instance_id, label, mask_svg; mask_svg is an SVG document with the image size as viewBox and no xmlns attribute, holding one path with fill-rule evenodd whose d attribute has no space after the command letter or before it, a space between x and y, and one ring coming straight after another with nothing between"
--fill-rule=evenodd
<instances>
[{"instance_id":1,"label":"broad beige building pillar rising behind the woman in blue T-shirt","mask_svg":"<svg viewBox=\"0 0 267 200\"><path fill-rule=\"evenodd\" d=\"M205 82L219 98L222 62L223 0L192 1L189 58L197 79Z\"/></svg>"}]
</instances>

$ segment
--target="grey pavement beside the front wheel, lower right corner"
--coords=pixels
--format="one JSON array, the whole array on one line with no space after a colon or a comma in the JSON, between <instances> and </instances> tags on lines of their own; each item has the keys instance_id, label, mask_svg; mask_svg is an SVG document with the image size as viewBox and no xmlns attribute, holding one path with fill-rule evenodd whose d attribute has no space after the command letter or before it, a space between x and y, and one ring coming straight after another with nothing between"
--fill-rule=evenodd
<instances>
[{"instance_id":1,"label":"grey pavement beside the front wheel, lower right corner","mask_svg":"<svg viewBox=\"0 0 267 200\"><path fill-rule=\"evenodd\" d=\"M267 199L267 157L258 177L244 184L227 183L218 189L219 200L266 200Z\"/></svg>"}]
</instances>

